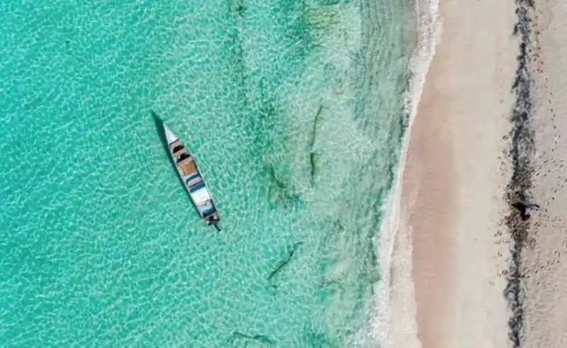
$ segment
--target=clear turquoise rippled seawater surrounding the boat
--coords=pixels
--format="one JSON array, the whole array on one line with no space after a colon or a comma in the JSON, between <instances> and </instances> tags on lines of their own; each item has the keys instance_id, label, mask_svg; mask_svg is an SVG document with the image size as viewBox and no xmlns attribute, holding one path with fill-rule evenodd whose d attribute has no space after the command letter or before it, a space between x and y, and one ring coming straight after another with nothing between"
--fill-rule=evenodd
<instances>
[{"instance_id":1,"label":"clear turquoise rippled seawater surrounding the boat","mask_svg":"<svg viewBox=\"0 0 567 348\"><path fill-rule=\"evenodd\" d=\"M376 347L397 1L0 3L3 347ZM196 156L198 219L155 110Z\"/></svg>"}]
</instances>

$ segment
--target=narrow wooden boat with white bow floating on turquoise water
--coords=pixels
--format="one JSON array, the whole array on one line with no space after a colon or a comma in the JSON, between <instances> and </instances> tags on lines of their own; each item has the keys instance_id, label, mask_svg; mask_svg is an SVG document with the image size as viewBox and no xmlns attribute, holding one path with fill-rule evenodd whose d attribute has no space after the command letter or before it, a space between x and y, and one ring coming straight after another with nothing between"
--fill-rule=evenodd
<instances>
[{"instance_id":1,"label":"narrow wooden boat with white bow floating on turquoise water","mask_svg":"<svg viewBox=\"0 0 567 348\"><path fill-rule=\"evenodd\" d=\"M177 169L177 174L183 181L185 189L191 196L191 201L197 208L201 218L205 220L207 226L213 225L220 231L218 223L220 218L218 211L213 203L213 198L208 191L207 184L199 172L197 164L193 160L191 152L181 143L179 137L163 123L165 140L169 155L172 156L173 162Z\"/></svg>"}]
</instances>

